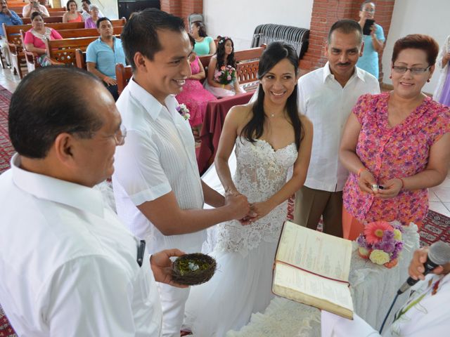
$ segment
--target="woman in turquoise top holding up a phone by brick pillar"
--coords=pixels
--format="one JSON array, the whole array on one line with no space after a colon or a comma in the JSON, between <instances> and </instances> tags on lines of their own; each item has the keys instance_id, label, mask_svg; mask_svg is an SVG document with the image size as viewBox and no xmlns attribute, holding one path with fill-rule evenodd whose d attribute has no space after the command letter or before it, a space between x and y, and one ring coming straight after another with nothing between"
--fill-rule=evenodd
<instances>
[{"instance_id":1,"label":"woman in turquoise top holding up a phone by brick pillar","mask_svg":"<svg viewBox=\"0 0 450 337\"><path fill-rule=\"evenodd\" d=\"M364 34L364 51L356 63L356 67L366 70L378 79L378 53L383 51L386 39L383 27L377 25L373 20L374 15L375 4L371 1L364 1L361 4L361 11L359 11L359 25Z\"/></svg>"}]
</instances>

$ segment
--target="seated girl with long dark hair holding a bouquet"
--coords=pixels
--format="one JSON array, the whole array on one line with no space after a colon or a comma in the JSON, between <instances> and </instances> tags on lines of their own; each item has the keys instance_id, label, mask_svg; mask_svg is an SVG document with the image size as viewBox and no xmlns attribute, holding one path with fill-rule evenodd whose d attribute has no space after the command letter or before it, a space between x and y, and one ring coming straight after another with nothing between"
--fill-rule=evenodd
<instances>
[{"instance_id":1,"label":"seated girl with long dark hair holding a bouquet","mask_svg":"<svg viewBox=\"0 0 450 337\"><path fill-rule=\"evenodd\" d=\"M228 79L221 79L226 67L233 67L233 74L229 74ZM226 84L224 83L226 81ZM222 37L217 44L217 52L212 56L208 65L207 81L205 88L217 98L233 96L236 93L243 93L236 77L236 60L234 58L234 44L229 37Z\"/></svg>"}]
</instances>

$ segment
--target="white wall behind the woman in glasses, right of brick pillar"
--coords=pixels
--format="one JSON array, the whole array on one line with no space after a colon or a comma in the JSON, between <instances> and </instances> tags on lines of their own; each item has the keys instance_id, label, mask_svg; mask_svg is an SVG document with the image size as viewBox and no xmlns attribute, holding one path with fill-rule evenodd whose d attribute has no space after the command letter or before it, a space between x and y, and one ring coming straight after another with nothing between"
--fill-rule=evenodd
<instances>
[{"instance_id":1,"label":"white wall behind the woman in glasses, right of brick pillar","mask_svg":"<svg viewBox=\"0 0 450 337\"><path fill-rule=\"evenodd\" d=\"M376 13L375 13L376 15ZM390 66L392 49L397 39L407 34L428 34L436 39L439 46L450 35L449 0L397 0L392 13L392 22L383 52L383 82L392 84ZM375 16L376 19L376 16ZM437 86L438 72L425 84L423 91L433 93Z\"/></svg>"}]
</instances>

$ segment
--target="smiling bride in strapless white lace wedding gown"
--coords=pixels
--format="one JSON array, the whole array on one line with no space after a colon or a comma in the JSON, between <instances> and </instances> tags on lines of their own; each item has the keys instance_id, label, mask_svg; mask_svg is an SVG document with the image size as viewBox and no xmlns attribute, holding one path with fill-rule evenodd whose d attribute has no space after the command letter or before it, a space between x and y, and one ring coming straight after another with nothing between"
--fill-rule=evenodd
<instances>
[{"instance_id":1,"label":"smiling bride in strapless white lace wedding gown","mask_svg":"<svg viewBox=\"0 0 450 337\"><path fill-rule=\"evenodd\" d=\"M210 282L191 289L186 303L184 326L195 337L240 329L272 298L272 265L287 199L302 187L311 154L312 124L297 109L297 70L292 46L270 44L259 60L257 100L226 116L214 164L226 194L245 195L252 212L241 223L218 225L211 253L218 270ZM228 159L234 145L232 180Z\"/></svg>"}]
</instances>

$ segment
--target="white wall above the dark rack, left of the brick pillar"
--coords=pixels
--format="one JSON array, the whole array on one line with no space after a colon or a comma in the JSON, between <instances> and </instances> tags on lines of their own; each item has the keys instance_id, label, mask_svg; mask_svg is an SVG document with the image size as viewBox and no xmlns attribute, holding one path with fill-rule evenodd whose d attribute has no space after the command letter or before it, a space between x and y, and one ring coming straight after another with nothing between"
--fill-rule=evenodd
<instances>
[{"instance_id":1,"label":"white wall above the dark rack, left of the brick pillar","mask_svg":"<svg viewBox=\"0 0 450 337\"><path fill-rule=\"evenodd\" d=\"M203 0L210 37L229 36L237 51L250 48L257 25L276 23L308 28L314 0ZM245 8L237 11L236 8Z\"/></svg>"}]
</instances>

